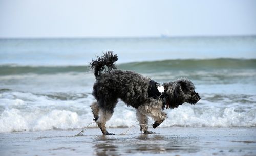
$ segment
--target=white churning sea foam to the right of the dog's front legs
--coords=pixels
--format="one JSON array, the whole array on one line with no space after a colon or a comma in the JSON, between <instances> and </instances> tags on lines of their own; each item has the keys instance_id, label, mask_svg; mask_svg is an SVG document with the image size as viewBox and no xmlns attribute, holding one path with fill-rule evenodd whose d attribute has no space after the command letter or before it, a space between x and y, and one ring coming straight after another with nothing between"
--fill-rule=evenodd
<instances>
[{"instance_id":1,"label":"white churning sea foam to the right of the dog's front legs","mask_svg":"<svg viewBox=\"0 0 256 156\"><path fill-rule=\"evenodd\" d=\"M201 112L203 111L203 112ZM197 111L189 106L181 106L168 113L161 127L191 126L191 127L251 127L256 126L256 116L248 112L236 112L236 108L205 107Z\"/></svg>"}]
</instances>

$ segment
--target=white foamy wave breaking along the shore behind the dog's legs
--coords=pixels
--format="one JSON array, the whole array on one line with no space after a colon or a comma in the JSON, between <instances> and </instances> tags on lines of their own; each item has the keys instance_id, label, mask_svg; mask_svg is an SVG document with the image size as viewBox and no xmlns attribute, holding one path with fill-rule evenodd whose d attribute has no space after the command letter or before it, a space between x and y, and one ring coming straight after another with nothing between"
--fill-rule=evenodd
<instances>
[{"instance_id":1,"label":"white foamy wave breaking along the shore behind the dog's legs","mask_svg":"<svg viewBox=\"0 0 256 156\"><path fill-rule=\"evenodd\" d=\"M69 95L69 97L65 97ZM81 129L93 122L91 94L38 94L3 89L0 92L0 132ZM255 95L204 94L196 105L168 109L161 127L255 127ZM150 120L149 124L153 123ZM119 101L106 126L139 125L136 110ZM150 126L150 125L149 125ZM96 124L90 125L96 128ZM151 126L150 126L151 127ZM152 127L151 127L152 128ZM157 131L157 130L156 130Z\"/></svg>"}]
</instances>

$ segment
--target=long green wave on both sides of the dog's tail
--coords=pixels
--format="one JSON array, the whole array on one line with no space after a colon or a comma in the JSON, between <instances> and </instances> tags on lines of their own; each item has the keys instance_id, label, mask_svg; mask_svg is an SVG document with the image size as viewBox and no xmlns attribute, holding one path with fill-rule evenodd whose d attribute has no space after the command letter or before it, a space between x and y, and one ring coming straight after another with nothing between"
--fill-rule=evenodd
<instances>
[{"instance_id":1,"label":"long green wave on both sides of the dog's tail","mask_svg":"<svg viewBox=\"0 0 256 156\"><path fill-rule=\"evenodd\" d=\"M215 69L255 69L256 59L176 59L163 61L144 61L118 64L118 69L134 70L138 72L164 72L177 70L215 70ZM0 75L15 74L55 74L67 72L90 72L84 66L19 66L1 65Z\"/></svg>"}]
</instances>

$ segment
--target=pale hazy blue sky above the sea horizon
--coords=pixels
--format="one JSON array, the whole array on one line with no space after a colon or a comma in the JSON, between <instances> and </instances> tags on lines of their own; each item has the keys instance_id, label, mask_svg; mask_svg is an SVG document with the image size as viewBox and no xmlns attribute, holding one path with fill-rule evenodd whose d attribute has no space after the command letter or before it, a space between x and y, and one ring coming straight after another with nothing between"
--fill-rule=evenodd
<instances>
[{"instance_id":1,"label":"pale hazy blue sky above the sea horizon","mask_svg":"<svg viewBox=\"0 0 256 156\"><path fill-rule=\"evenodd\" d=\"M255 0L0 0L0 38L256 35Z\"/></svg>"}]
</instances>

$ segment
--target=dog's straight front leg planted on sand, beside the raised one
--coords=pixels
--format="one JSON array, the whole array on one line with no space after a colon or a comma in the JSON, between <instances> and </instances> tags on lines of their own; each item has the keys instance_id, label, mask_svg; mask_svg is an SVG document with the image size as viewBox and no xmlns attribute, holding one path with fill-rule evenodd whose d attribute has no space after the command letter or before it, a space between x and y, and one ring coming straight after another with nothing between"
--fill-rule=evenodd
<instances>
[{"instance_id":1,"label":"dog's straight front leg planted on sand, beside the raised one","mask_svg":"<svg viewBox=\"0 0 256 156\"><path fill-rule=\"evenodd\" d=\"M152 131L148 131L148 127L147 127L148 117L146 115L142 114L139 109L137 109L136 117L137 117L137 120L140 123L140 131L143 131L144 134L155 133L155 132L152 132Z\"/></svg>"}]
</instances>

